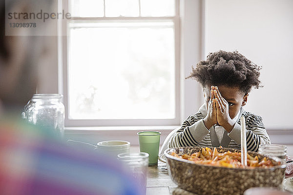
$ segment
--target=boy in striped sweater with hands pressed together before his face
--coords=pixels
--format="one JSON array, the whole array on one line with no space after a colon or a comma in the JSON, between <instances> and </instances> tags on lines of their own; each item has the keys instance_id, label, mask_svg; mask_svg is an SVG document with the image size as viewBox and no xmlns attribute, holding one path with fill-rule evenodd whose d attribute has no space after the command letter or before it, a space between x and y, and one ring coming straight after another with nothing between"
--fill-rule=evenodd
<instances>
[{"instance_id":1,"label":"boy in striped sweater with hands pressed together before his face","mask_svg":"<svg viewBox=\"0 0 293 195\"><path fill-rule=\"evenodd\" d=\"M260 85L260 67L236 52L210 53L192 67L188 78L201 83L205 104L190 115L168 147L213 146L240 149L240 117L245 117L247 150L271 144L262 118L244 111L251 88Z\"/></svg>"}]
</instances>

